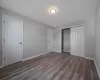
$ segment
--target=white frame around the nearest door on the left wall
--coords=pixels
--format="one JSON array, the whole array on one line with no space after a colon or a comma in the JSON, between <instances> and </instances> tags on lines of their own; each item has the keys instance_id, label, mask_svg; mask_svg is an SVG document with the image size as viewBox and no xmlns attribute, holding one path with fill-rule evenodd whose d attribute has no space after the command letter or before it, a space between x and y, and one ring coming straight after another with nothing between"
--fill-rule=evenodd
<instances>
[{"instance_id":1,"label":"white frame around the nearest door on the left wall","mask_svg":"<svg viewBox=\"0 0 100 80\"><path fill-rule=\"evenodd\" d=\"M2 67L5 66L5 19L9 18L9 19L14 19L14 20L19 20L21 22L21 61L23 61L23 20L12 17L12 16L8 16L8 15L2 15Z\"/></svg>"}]
</instances>

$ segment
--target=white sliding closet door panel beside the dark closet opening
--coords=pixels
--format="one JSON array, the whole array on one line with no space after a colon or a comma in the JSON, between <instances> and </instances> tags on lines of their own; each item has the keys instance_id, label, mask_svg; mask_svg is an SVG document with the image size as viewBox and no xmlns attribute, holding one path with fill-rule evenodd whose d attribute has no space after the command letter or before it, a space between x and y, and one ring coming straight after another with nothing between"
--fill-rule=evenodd
<instances>
[{"instance_id":1,"label":"white sliding closet door panel beside the dark closet opening","mask_svg":"<svg viewBox=\"0 0 100 80\"><path fill-rule=\"evenodd\" d=\"M84 57L84 27L71 28L71 54Z\"/></svg>"}]
</instances>

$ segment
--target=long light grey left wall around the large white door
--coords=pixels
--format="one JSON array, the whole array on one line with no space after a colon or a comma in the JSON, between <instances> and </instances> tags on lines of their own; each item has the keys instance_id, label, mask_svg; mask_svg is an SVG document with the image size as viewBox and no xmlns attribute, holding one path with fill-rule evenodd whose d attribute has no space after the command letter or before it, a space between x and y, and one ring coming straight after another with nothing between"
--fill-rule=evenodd
<instances>
[{"instance_id":1,"label":"long light grey left wall around the large white door","mask_svg":"<svg viewBox=\"0 0 100 80\"><path fill-rule=\"evenodd\" d=\"M8 11L3 8L0 8L0 14L1 13L2 15L8 15L8 16L23 20L23 26L24 26L23 58L24 59L47 52L47 29L52 28L51 26L45 25L35 20L31 20L25 16L21 16L17 13ZM1 21L2 15L0 16L0 22L2 22ZM1 59L2 59L1 57L1 43L2 43L1 42L2 40L1 27L2 26L0 26L0 65L1 65Z\"/></svg>"}]
</instances>

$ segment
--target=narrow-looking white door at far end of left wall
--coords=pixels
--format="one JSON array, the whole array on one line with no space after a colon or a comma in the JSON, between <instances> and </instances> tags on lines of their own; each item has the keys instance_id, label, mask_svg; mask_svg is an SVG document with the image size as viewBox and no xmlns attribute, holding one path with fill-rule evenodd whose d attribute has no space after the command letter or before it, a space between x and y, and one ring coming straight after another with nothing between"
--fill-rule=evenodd
<instances>
[{"instance_id":1,"label":"narrow-looking white door at far end of left wall","mask_svg":"<svg viewBox=\"0 0 100 80\"><path fill-rule=\"evenodd\" d=\"M48 52L53 51L53 29L48 28Z\"/></svg>"}]
</instances>

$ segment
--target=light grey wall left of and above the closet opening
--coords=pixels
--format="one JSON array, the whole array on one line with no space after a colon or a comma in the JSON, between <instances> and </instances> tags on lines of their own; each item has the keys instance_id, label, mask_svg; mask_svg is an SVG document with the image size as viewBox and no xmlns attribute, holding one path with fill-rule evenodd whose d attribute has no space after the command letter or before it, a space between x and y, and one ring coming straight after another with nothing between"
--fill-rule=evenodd
<instances>
[{"instance_id":1,"label":"light grey wall left of and above the closet opening","mask_svg":"<svg viewBox=\"0 0 100 80\"><path fill-rule=\"evenodd\" d=\"M84 20L80 20L80 21L69 23L67 25L55 27L54 28L54 51L61 52L61 37L62 37L61 30L62 29L70 28L77 25L79 26L83 24L84 24Z\"/></svg>"}]
</instances>

